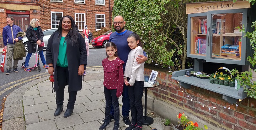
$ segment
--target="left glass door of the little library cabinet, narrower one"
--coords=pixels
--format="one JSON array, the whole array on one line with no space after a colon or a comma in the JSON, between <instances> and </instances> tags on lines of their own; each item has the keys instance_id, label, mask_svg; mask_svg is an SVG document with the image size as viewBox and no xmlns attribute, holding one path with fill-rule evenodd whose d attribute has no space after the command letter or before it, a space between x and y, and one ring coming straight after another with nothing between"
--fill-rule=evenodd
<instances>
[{"instance_id":1,"label":"left glass door of the little library cabinet, narrower one","mask_svg":"<svg viewBox=\"0 0 256 130\"><path fill-rule=\"evenodd\" d=\"M203 16L204 15L204 16ZM188 15L189 57L206 59L207 54L207 13Z\"/></svg>"}]
</instances>

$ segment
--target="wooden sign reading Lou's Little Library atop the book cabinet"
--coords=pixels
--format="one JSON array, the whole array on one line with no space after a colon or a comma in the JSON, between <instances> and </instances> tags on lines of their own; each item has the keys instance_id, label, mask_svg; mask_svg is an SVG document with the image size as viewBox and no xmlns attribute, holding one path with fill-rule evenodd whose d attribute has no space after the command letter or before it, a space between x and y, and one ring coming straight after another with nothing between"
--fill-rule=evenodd
<instances>
[{"instance_id":1,"label":"wooden sign reading Lou's Little Library atop the book cabinet","mask_svg":"<svg viewBox=\"0 0 256 130\"><path fill-rule=\"evenodd\" d=\"M250 8L248 1L223 1L223 2L201 2L187 4L187 14L202 13L213 10L233 10L239 8Z\"/></svg>"}]
</instances>

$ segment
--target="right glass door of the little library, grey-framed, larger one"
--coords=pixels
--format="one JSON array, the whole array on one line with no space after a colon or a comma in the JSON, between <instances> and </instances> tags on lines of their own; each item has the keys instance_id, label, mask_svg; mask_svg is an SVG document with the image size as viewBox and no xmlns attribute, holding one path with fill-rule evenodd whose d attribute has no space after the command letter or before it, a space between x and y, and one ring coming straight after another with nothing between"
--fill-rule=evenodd
<instances>
[{"instance_id":1,"label":"right glass door of the little library, grey-framed, larger one","mask_svg":"<svg viewBox=\"0 0 256 130\"><path fill-rule=\"evenodd\" d=\"M210 33L207 35L209 39L207 61L243 64L241 61L245 58L246 42L245 38L242 38L242 32L236 27L242 28L242 25L247 23L243 21L246 19L245 16L243 9L208 12Z\"/></svg>"}]
</instances>

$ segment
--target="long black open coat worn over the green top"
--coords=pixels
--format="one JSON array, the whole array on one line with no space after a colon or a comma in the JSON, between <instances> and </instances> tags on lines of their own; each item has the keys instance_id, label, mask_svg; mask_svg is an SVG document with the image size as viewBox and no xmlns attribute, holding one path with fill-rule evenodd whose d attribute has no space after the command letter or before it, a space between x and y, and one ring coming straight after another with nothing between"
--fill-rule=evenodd
<instances>
[{"instance_id":1,"label":"long black open coat worn over the green top","mask_svg":"<svg viewBox=\"0 0 256 130\"><path fill-rule=\"evenodd\" d=\"M75 46L70 43L70 39L68 38L66 41L67 49L67 59L68 59L68 72L69 72L69 81L68 81L68 92L70 91L78 91L82 89L82 76L78 75L78 68L79 65L87 65L87 52L86 52L86 45L85 40L81 36L78 35L78 45ZM48 45L46 48L46 64L52 63L54 67L54 91L59 89L58 85L58 72L57 66L57 59L59 56L59 44L61 39L62 33L59 31L53 32L52 36L50 36L48 40Z\"/></svg>"}]
</instances>

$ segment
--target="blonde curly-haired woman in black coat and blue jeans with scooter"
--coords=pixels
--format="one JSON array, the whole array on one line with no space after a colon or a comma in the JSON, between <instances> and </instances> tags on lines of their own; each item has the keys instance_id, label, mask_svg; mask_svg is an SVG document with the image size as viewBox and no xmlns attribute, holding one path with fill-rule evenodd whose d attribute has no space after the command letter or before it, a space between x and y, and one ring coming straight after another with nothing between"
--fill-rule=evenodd
<instances>
[{"instance_id":1,"label":"blonde curly-haired woman in black coat and blue jeans with scooter","mask_svg":"<svg viewBox=\"0 0 256 130\"><path fill-rule=\"evenodd\" d=\"M43 36L44 36L43 31L39 26L38 19L33 18L30 21L30 26L27 28L26 36L28 39L28 43L27 43L28 54L25 60L24 70L27 72L30 72L31 70L28 68L28 62L30 60L32 53L36 52L36 45L30 44L30 43L37 43L37 45L41 45L41 42L43 41ZM41 57L41 61L43 63L43 67L47 69L48 66L46 65L46 60L44 59L43 47L38 47L38 51Z\"/></svg>"}]
</instances>

